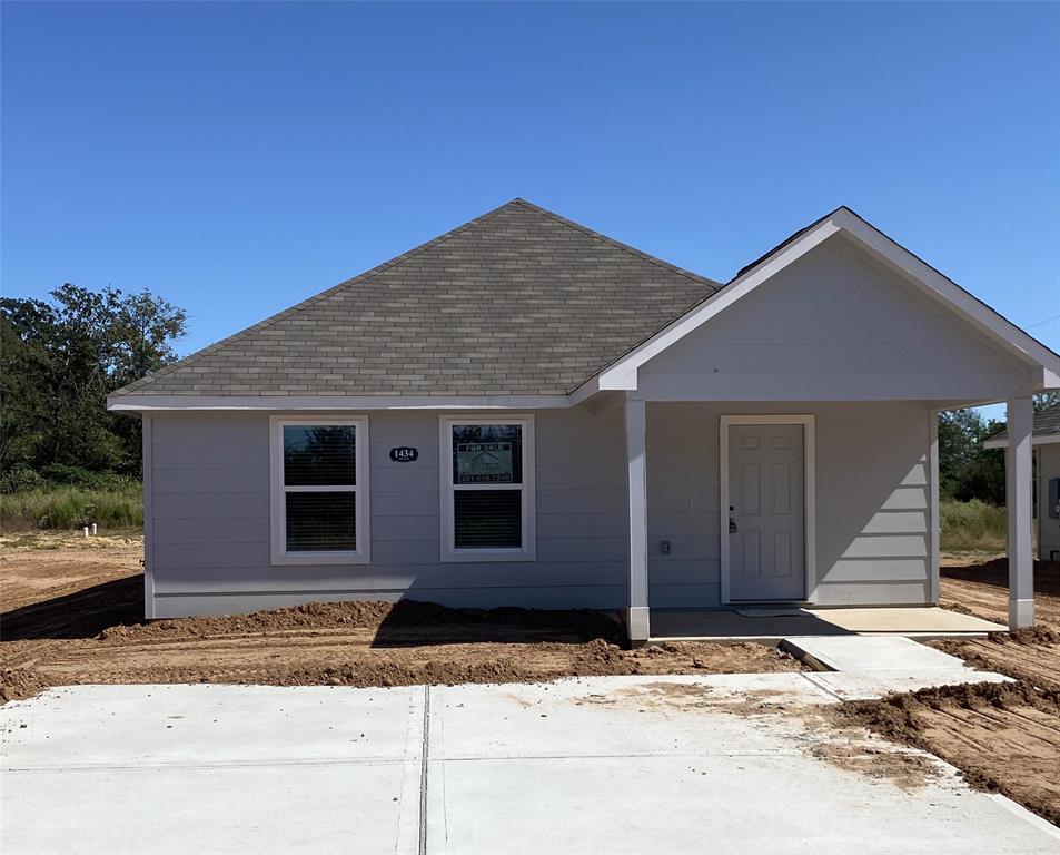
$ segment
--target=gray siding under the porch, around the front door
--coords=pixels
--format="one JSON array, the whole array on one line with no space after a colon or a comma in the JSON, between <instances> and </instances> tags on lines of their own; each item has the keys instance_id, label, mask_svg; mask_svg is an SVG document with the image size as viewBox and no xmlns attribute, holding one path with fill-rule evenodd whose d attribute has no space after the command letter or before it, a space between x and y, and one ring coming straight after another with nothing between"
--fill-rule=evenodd
<instances>
[{"instance_id":1,"label":"gray siding under the porch, around the front door","mask_svg":"<svg viewBox=\"0 0 1060 855\"><path fill-rule=\"evenodd\" d=\"M648 404L650 601L721 605L719 430L722 415L816 416L820 605L930 601L927 404ZM662 541L671 542L663 554Z\"/></svg>"}]
</instances>

